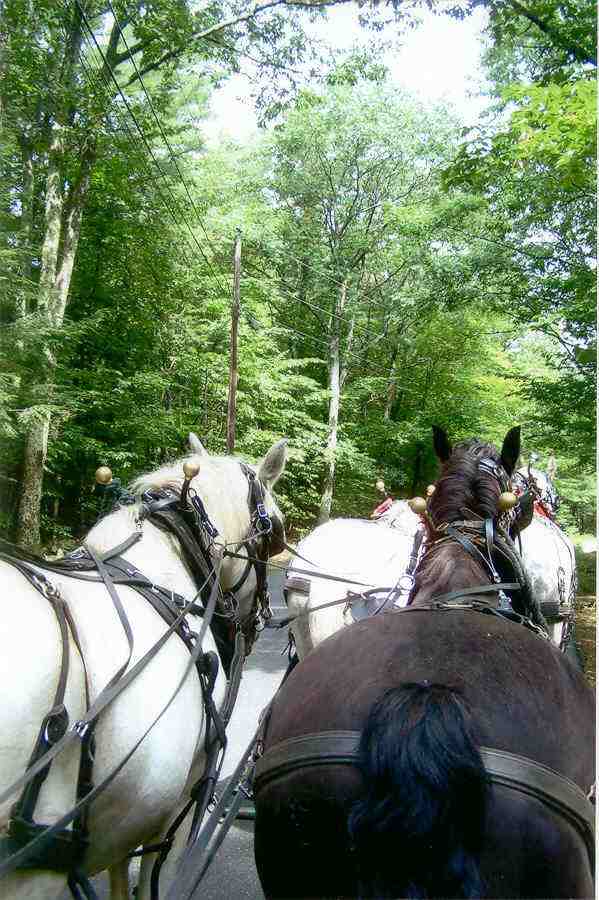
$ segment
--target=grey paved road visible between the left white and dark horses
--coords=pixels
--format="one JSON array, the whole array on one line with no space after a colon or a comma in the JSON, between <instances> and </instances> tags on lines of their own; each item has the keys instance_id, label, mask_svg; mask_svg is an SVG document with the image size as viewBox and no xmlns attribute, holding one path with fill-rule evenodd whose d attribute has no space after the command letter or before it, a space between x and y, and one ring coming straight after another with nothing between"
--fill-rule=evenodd
<instances>
[{"instance_id":1,"label":"grey paved road visible between the left white and dark horses","mask_svg":"<svg viewBox=\"0 0 599 900\"><path fill-rule=\"evenodd\" d=\"M269 575L272 607L276 618L281 618L286 611L282 598L283 574L282 571L272 570ZM286 644L286 629L266 629L248 657L237 703L227 728L229 744L222 769L223 779L235 770L257 728L260 711L271 699L283 677L287 668L287 654L284 652ZM94 878L93 884L100 900L108 900L106 877L101 875ZM70 898L71 894L66 891L60 900ZM264 900L254 865L251 821L238 820L230 829L194 898Z\"/></svg>"}]
</instances>

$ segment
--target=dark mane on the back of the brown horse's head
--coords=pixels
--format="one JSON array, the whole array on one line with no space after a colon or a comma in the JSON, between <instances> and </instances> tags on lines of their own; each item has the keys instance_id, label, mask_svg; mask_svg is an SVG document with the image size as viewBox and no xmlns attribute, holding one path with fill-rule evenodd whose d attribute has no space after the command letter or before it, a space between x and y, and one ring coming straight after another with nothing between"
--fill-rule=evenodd
<instances>
[{"instance_id":1,"label":"dark mane on the back of the brown horse's head","mask_svg":"<svg viewBox=\"0 0 599 900\"><path fill-rule=\"evenodd\" d=\"M492 444L472 439L456 444L444 463L435 493L429 500L429 514L435 526L471 517L497 515L499 485L492 475L479 468L481 459L501 465L499 451Z\"/></svg>"}]
</instances>

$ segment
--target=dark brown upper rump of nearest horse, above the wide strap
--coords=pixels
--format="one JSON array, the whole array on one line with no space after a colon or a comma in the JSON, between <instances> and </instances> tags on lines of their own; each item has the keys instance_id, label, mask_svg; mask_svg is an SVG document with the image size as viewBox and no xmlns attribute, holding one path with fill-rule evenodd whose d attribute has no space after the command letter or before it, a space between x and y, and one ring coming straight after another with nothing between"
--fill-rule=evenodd
<instances>
[{"instance_id":1,"label":"dark brown upper rump of nearest horse, above the wide strap","mask_svg":"<svg viewBox=\"0 0 599 900\"><path fill-rule=\"evenodd\" d=\"M550 641L471 610L407 608L328 638L281 688L265 745L360 731L388 688L422 681L462 695L480 745L528 756L588 790L595 699L584 676Z\"/></svg>"}]
</instances>

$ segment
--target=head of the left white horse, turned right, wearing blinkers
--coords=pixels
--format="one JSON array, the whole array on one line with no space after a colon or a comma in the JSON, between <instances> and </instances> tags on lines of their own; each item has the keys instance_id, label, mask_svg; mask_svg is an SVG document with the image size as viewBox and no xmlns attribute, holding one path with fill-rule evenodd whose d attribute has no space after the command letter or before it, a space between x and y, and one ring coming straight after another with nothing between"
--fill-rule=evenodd
<instances>
[{"instance_id":1,"label":"head of the left white horse, turned right, wearing blinkers","mask_svg":"<svg viewBox=\"0 0 599 900\"><path fill-rule=\"evenodd\" d=\"M242 623L248 647L255 637L257 611L269 612L266 562L285 542L283 516L272 489L285 468L286 444L278 441L257 465L249 465L233 456L213 456L197 435L191 434L188 456L133 482L131 491L137 502L120 517L123 537L130 531L132 519L148 519L151 524L156 515L164 517L165 508L172 519L187 523L187 529L171 529L167 523L167 530L174 531L179 541L163 534L162 546L154 556L150 553L147 565L159 569L153 575L157 579L162 569L176 566L176 556L195 573L196 586L201 575L195 571L194 560L200 569L202 559L204 565L218 567L225 602L231 607L231 617ZM102 538L98 532L108 532L105 543L110 541L112 546L118 525L119 518L109 516L94 528L93 535ZM186 533L192 535L191 547ZM162 564L160 553L164 553Z\"/></svg>"}]
</instances>

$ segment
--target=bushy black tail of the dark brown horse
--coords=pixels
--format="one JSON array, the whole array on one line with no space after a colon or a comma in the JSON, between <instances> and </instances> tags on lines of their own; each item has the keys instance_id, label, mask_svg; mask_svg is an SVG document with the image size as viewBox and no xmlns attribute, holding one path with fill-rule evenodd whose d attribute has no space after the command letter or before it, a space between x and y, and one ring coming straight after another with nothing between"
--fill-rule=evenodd
<instances>
[{"instance_id":1,"label":"bushy black tail of the dark brown horse","mask_svg":"<svg viewBox=\"0 0 599 900\"><path fill-rule=\"evenodd\" d=\"M360 896L481 897L487 779L456 691L387 691L362 731L359 767L366 793L348 827Z\"/></svg>"}]
</instances>

